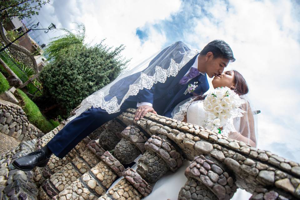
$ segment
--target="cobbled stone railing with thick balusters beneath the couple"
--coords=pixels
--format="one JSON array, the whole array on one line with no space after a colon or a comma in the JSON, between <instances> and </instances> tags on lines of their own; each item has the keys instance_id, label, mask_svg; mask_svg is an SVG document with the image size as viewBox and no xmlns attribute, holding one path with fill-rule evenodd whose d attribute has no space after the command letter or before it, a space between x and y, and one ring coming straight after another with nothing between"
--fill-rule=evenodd
<instances>
[{"instance_id":1,"label":"cobbled stone railing with thick balusters beneath the couple","mask_svg":"<svg viewBox=\"0 0 300 200\"><path fill-rule=\"evenodd\" d=\"M141 199L152 191L148 183L155 183L169 170L176 171L183 159L187 159L192 161L185 171L188 180L178 191L178 199L230 199L237 187L251 192L251 199L300 198L298 163L202 127L152 113L134 121L135 111L123 112L103 126L104 131L98 128L63 159L53 155L46 167L18 175L22 172L14 171L11 160L43 147L62 126L37 141L32 140L32 145L22 142L17 149L0 157L0 196L6 199L20 195L60 200ZM105 147L96 142L104 139L111 140L106 141ZM123 165L138 154L143 155L137 170L125 170ZM23 182L17 182L14 176L28 183L35 182L28 186L32 191L26 192ZM111 187L118 177L122 178ZM14 190L16 186L22 187L22 191Z\"/></svg>"}]
</instances>

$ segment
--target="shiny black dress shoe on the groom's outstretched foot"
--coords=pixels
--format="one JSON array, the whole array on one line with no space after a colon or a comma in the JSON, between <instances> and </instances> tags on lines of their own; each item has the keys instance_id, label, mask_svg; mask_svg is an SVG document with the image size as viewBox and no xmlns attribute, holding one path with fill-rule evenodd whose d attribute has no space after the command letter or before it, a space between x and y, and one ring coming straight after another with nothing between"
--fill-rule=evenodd
<instances>
[{"instance_id":1,"label":"shiny black dress shoe on the groom's outstretched foot","mask_svg":"<svg viewBox=\"0 0 300 200\"><path fill-rule=\"evenodd\" d=\"M29 153L26 156L17 158L12 165L22 171L31 171L35 167L45 167L49 162L52 152L45 146L37 151Z\"/></svg>"}]
</instances>

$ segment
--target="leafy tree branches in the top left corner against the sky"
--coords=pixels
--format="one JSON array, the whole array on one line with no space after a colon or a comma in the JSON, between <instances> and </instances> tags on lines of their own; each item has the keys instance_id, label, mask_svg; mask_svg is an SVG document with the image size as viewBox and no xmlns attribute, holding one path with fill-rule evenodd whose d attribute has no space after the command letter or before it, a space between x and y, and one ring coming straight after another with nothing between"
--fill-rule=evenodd
<instances>
[{"instance_id":1,"label":"leafy tree branches in the top left corner against the sky","mask_svg":"<svg viewBox=\"0 0 300 200\"><path fill-rule=\"evenodd\" d=\"M0 20L8 22L12 17L18 17L20 20L25 17L31 18L32 15L38 15L38 10L42 5L49 3L50 0L2 0L0 3Z\"/></svg>"}]
</instances>

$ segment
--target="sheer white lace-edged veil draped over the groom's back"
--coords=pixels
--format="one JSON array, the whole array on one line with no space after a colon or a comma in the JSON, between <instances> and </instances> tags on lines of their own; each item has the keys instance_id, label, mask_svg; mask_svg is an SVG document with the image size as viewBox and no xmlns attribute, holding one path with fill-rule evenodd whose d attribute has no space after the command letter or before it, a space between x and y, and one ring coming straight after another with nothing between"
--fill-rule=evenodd
<instances>
[{"instance_id":1,"label":"sheer white lace-edged veil draped over the groom's back","mask_svg":"<svg viewBox=\"0 0 300 200\"><path fill-rule=\"evenodd\" d=\"M137 66L124 70L112 83L85 98L67 122L92 106L101 107L108 113L118 112L129 96L137 95L143 88L150 89L155 83L164 83L170 76L176 76L197 53L199 50L192 49L188 44L175 42Z\"/></svg>"}]
</instances>

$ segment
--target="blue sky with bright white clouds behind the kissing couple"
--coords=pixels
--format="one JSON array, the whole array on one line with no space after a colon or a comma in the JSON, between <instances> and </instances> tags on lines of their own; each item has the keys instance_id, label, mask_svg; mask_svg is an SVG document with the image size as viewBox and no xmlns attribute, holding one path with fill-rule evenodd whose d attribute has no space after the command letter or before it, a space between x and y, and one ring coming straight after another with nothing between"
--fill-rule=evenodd
<instances>
[{"instance_id":1,"label":"blue sky with bright white clouds behind the kissing couple","mask_svg":"<svg viewBox=\"0 0 300 200\"><path fill-rule=\"evenodd\" d=\"M201 49L213 39L233 50L258 115L258 148L300 162L300 6L294 0L83 1L51 0L39 20L47 27L86 26L86 42L124 44L131 63L178 40ZM35 33L38 34L38 33ZM43 35L43 43L62 32ZM41 35L42 36L42 35ZM209 80L211 81L211 79Z\"/></svg>"}]
</instances>

